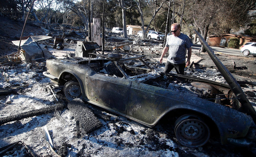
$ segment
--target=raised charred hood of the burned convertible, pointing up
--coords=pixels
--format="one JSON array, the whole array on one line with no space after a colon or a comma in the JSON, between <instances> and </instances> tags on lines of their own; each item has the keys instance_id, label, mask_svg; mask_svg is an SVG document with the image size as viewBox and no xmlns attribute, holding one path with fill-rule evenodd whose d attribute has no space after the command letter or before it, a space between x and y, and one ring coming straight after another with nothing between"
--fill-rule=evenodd
<instances>
[{"instance_id":1,"label":"raised charred hood of the burned convertible, pointing up","mask_svg":"<svg viewBox=\"0 0 256 157\"><path fill-rule=\"evenodd\" d=\"M212 51L210 46L206 43L206 41L199 34L199 32L196 31L195 29L194 29L194 32L196 33L196 36L199 37L199 41L204 46L204 48L206 49L207 53L209 54L209 56L213 60L214 64L219 69L219 71L221 72L222 76L224 77L226 82L231 87L231 90L233 91L233 93L238 98L239 102L242 105L243 110L245 110L246 113L249 114L250 116L252 116L254 121L256 121L256 111L253 108L253 106L251 105L250 101L246 98L246 95L244 94L244 91L241 89L239 83L236 81L234 76L229 72L229 70L227 70L227 68L216 57L216 55L214 54L214 51Z\"/></svg>"}]
</instances>

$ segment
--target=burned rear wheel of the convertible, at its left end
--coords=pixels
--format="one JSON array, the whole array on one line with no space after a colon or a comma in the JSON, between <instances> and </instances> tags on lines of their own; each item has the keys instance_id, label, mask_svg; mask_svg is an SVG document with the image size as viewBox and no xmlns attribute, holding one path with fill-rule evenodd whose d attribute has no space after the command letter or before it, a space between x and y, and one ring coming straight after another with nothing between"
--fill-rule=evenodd
<instances>
[{"instance_id":1,"label":"burned rear wheel of the convertible, at its left end","mask_svg":"<svg viewBox=\"0 0 256 157\"><path fill-rule=\"evenodd\" d=\"M64 94L69 101L82 97L81 87L78 82L70 81L64 85Z\"/></svg>"}]
</instances>

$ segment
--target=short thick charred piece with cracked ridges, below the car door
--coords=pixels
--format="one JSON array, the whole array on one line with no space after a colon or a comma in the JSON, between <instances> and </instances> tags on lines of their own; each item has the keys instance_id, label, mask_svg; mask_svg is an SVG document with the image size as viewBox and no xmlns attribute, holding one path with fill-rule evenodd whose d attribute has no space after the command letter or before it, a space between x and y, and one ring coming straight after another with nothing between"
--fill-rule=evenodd
<instances>
[{"instance_id":1,"label":"short thick charred piece with cracked ridges, below the car door","mask_svg":"<svg viewBox=\"0 0 256 157\"><path fill-rule=\"evenodd\" d=\"M90 133L93 130L102 126L99 119L94 116L93 112L85 105L85 103L79 99L73 99L67 104L68 109L71 111L76 121L84 123L85 133Z\"/></svg>"}]
</instances>

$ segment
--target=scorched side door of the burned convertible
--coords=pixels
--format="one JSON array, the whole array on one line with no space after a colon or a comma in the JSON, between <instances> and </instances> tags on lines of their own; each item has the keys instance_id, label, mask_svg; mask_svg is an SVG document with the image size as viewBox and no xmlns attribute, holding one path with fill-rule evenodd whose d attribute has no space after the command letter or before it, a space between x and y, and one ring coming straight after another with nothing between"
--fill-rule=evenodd
<instances>
[{"instance_id":1,"label":"scorched side door of the burned convertible","mask_svg":"<svg viewBox=\"0 0 256 157\"><path fill-rule=\"evenodd\" d=\"M126 114L131 81L95 73L86 76L87 98L99 106Z\"/></svg>"}]
</instances>

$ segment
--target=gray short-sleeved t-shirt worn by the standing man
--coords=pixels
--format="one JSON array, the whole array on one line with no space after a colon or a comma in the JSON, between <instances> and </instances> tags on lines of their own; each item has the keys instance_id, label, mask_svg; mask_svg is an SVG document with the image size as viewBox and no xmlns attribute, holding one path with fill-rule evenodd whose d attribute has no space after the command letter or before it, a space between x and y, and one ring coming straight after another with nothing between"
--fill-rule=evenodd
<instances>
[{"instance_id":1,"label":"gray short-sleeved t-shirt worn by the standing man","mask_svg":"<svg viewBox=\"0 0 256 157\"><path fill-rule=\"evenodd\" d=\"M181 33L179 36L168 36L165 46L169 47L167 60L173 64L182 64L186 62L186 49L193 46L193 43L187 35Z\"/></svg>"}]
</instances>

